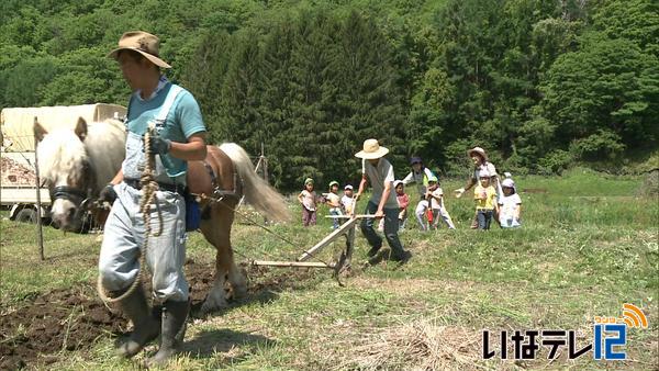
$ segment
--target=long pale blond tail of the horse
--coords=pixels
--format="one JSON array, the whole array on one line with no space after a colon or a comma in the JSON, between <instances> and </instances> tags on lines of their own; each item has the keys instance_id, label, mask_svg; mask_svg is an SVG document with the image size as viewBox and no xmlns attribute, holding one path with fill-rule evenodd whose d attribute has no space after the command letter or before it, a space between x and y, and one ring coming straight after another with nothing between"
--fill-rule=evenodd
<instances>
[{"instance_id":1,"label":"long pale blond tail of the horse","mask_svg":"<svg viewBox=\"0 0 659 371\"><path fill-rule=\"evenodd\" d=\"M231 158L236 167L243 180L245 200L258 212L273 221L289 221L291 214L286 205L283 195L258 177L245 149L235 143L223 143L220 149Z\"/></svg>"}]
</instances>

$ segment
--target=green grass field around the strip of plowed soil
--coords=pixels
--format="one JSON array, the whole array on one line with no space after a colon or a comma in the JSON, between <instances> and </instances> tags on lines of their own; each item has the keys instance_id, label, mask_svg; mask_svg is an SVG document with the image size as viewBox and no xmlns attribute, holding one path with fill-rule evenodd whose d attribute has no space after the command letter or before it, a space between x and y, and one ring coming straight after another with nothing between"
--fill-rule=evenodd
<instances>
[{"instance_id":1,"label":"green grass field around the strip of plowed soil","mask_svg":"<svg viewBox=\"0 0 659 371\"><path fill-rule=\"evenodd\" d=\"M641 178L588 170L561 178L521 177L516 182L523 192L521 229L471 231L471 200L450 196L446 205L458 229L422 234L410 220L401 238L414 257L401 268L364 268L367 246L357 233L354 269L343 278L345 286L325 270L259 270L249 278L250 285L266 289L222 313L194 319L186 352L174 368L658 369L659 200L638 196ZM459 186L461 180L443 183L446 193ZM297 246L238 223L233 238L238 260L292 260L330 232L331 222L323 217L315 227L301 227L298 206L291 210L295 221L271 229ZM0 223L0 314L51 290L87 288L93 293L100 246L94 235L45 229L47 259L41 262L32 226ZM342 245L320 259L331 260ZM210 266L214 251L193 234L188 256ZM585 346L593 340L593 317L619 317L623 303L643 308L649 322L647 329L628 330L626 361L595 361L592 352L568 360L566 348L548 361L543 346L537 360L481 359L483 329L493 334L490 344L496 350L503 329L573 329L578 346ZM2 334L0 346L12 346L14 335ZM107 333L88 350L59 351L47 368L133 369L144 358L120 360L113 342Z\"/></svg>"}]
</instances>

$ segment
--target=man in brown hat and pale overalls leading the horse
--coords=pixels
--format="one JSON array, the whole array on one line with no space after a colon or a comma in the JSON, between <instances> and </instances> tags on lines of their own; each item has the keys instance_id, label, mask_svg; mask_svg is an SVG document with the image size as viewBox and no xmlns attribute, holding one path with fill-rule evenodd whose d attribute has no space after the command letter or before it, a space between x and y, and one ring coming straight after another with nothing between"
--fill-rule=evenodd
<instances>
[{"instance_id":1,"label":"man in brown hat and pale overalls leading the horse","mask_svg":"<svg viewBox=\"0 0 659 371\"><path fill-rule=\"evenodd\" d=\"M160 215L156 207L152 221L163 221L161 234L149 235L146 263L152 272L153 296L163 303L160 317L152 316L142 285L120 300L120 306L133 322L133 333L119 352L130 358L161 336L158 352L148 364L165 363L178 349L182 339L189 303L189 286L183 276L186 260L186 187L187 161L203 160L206 156L206 128L199 104L190 92L178 87L161 74L169 64L159 56L158 37L143 32L124 33L119 46L108 56L120 66L124 79L133 90L126 117L126 157L122 169L101 193L101 199L113 202L105 223L99 271L103 289L111 297L126 293L139 270L139 248L145 225L139 210L139 178L148 153L156 154L155 179ZM144 135L150 134L150 146L145 148ZM153 222L155 223L155 222ZM178 334L178 336L177 336Z\"/></svg>"}]
</instances>

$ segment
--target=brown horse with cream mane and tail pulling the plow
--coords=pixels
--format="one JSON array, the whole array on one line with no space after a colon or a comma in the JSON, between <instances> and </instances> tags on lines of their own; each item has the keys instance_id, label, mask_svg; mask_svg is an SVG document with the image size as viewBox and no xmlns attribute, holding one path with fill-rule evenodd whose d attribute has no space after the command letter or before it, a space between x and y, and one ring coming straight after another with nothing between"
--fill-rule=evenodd
<instances>
[{"instance_id":1,"label":"brown horse with cream mane and tail pulling the plow","mask_svg":"<svg viewBox=\"0 0 659 371\"><path fill-rule=\"evenodd\" d=\"M76 127L48 133L34 124L43 178L51 190L52 217L64 231L77 231L90 200L121 169L125 157L125 127L118 120L91 123L79 119ZM271 221L288 221L284 198L256 173L248 154L235 143L206 146L203 161L188 161L188 188L201 196L199 229L216 249L213 286L201 306L210 313L227 305L225 281L234 297L247 293L231 246L236 206L245 201Z\"/></svg>"}]
</instances>

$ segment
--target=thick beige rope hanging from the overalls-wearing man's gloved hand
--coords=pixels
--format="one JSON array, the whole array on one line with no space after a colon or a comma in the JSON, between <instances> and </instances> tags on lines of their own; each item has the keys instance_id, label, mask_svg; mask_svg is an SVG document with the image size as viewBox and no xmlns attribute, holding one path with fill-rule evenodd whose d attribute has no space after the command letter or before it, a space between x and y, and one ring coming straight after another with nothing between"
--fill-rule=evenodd
<instances>
[{"instance_id":1,"label":"thick beige rope hanging from the overalls-wearing man's gloved hand","mask_svg":"<svg viewBox=\"0 0 659 371\"><path fill-rule=\"evenodd\" d=\"M144 267L146 267L146 249L148 247L148 236L152 235L152 226L150 226L150 205L152 203L156 205L156 210L158 212L158 232L154 234L155 237L163 234L163 214L160 207L158 206L158 200L156 199L156 192L158 191L158 182L156 181L156 155L150 150L150 136L154 128L149 127L149 130L144 134L144 149L146 151L146 164L144 167L144 171L142 172L142 177L139 177L139 184L142 186L142 199L139 200L139 212L142 212L142 217L144 218L144 241L139 247L139 268L137 270L137 276L135 276L135 280L131 283L131 286L121 295L116 297L109 297L105 294L105 289L102 284L101 276L99 274L99 279L97 282L97 291L99 292L99 296L105 303L115 303L126 299L131 295L137 286L142 284L142 274L144 271Z\"/></svg>"}]
</instances>

